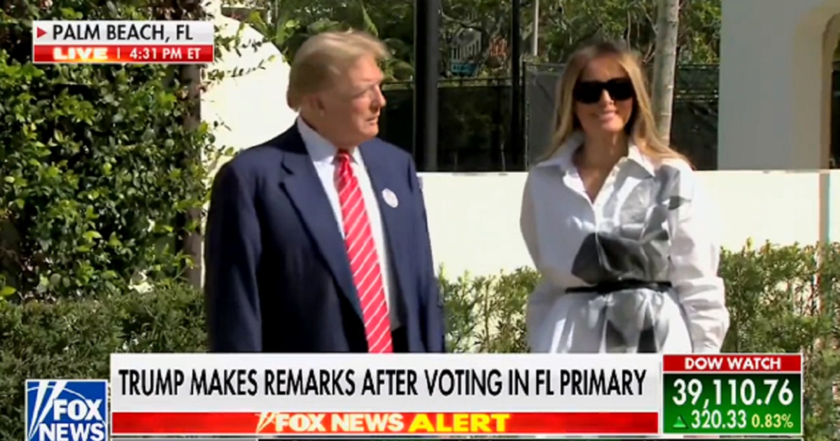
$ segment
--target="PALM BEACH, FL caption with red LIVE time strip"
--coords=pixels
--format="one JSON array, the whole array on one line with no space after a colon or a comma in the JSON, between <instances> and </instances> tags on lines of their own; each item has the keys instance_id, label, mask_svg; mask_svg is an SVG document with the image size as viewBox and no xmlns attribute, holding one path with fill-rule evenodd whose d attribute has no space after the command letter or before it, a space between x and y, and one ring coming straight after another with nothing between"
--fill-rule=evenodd
<instances>
[{"instance_id":1,"label":"PALM BEACH, FL caption with red LIVE time strip","mask_svg":"<svg viewBox=\"0 0 840 441\"><path fill-rule=\"evenodd\" d=\"M35 21L36 64L211 64L206 21Z\"/></svg>"}]
</instances>

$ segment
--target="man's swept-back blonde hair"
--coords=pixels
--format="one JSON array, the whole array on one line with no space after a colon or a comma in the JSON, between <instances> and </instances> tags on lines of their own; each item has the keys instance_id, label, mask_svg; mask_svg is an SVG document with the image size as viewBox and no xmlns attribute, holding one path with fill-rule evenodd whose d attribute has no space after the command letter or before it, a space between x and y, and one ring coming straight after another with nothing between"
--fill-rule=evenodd
<instances>
[{"instance_id":1,"label":"man's swept-back blonde hair","mask_svg":"<svg viewBox=\"0 0 840 441\"><path fill-rule=\"evenodd\" d=\"M289 107L299 110L304 96L323 91L366 55L385 60L391 53L379 39L357 30L323 32L307 39L291 60L286 92Z\"/></svg>"}]
</instances>

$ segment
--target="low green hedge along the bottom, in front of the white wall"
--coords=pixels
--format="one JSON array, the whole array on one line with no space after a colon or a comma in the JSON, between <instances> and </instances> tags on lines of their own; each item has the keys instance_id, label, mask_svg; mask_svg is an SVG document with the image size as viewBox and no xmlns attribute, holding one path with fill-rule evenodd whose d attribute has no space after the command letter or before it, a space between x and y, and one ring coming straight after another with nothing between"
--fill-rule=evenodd
<instances>
[{"instance_id":1,"label":"low green hedge along the bottom, in front of the white wall","mask_svg":"<svg viewBox=\"0 0 840 441\"><path fill-rule=\"evenodd\" d=\"M725 253L727 352L806 354L806 438L837 439L840 245ZM522 352L533 270L442 281L454 352ZM108 378L113 352L201 352L202 296L181 286L103 300L0 305L0 439L24 436L26 378ZM8 398L10 397L10 398Z\"/></svg>"}]
</instances>

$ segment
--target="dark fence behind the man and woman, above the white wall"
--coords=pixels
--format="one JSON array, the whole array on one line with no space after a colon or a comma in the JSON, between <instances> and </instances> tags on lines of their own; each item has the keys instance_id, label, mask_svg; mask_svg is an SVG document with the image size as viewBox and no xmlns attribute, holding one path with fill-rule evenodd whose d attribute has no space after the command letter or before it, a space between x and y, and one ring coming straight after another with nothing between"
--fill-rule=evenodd
<instances>
[{"instance_id":1,"label":"dark fence behind the man and woman, above the white wall","mask_svg":"<svg viewBox=\"0 0 840 441\"><path fill-rule=\"evenodd\" d=\"M442 81L439 88L437 171L524 171L548 145L559 65L527 65L524 139L511 145L509 79ZM388 100L381 137L412 150L413 96L410 83L384 87ZM676 77L671 140L700 170L717 166L717 66L680 66ZM423 152L417 152L422 168Z\"/></svg>"}]
</instances>

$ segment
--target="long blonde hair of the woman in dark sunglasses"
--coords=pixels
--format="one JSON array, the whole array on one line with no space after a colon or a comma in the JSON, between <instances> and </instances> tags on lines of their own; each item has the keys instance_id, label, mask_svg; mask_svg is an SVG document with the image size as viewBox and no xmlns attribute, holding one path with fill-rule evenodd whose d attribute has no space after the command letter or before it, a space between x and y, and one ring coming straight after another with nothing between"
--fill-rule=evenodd
<instances>
[{"instance_id":1,"label":"long blonde hair of the woman in dark sunglasses","mask_svg":"<svg viewBox=\"0 0 840 441\"><path fill-rule=\"evenodd\" d=\"M554 156L575 131L580 130L580 121L575 117L574 90L580 76L591 60L602 56L612 56L627 72L635 91L633 97L633 113L631 113L625 130L630 139L645 155L654 160L675 158L690 161L684 155L665 144L656 130L654 113L650 104L647 81L642 73L642 66L638 55L627 50L623 45L612 41L601 41L586 45L577 50L566 63L563 76L557 85L557 99L554 102L554 133L551 144L543 160Z\"/></svg>"}]
</instances>

